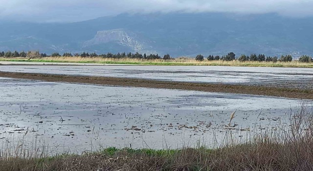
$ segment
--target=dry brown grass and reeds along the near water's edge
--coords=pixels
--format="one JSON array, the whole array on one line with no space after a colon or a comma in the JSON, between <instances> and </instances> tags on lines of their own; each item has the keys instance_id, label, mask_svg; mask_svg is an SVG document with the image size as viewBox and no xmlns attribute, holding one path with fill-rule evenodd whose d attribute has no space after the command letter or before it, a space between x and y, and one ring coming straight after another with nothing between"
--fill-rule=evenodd
<instances>
[{"instance_id":1,"label":"dry brown grass and reeds along the near water's edge","mask_svg":"<svg viewBox=\"0 0 313 171\"><path fill-rule=\"evenodd\" d=\"M117 150L44 158L0 158L1 171L312 171L313 113L302 107L280 131L258 130L244 144L226 134L214 150Z\"/></svg>"}]
</instances>

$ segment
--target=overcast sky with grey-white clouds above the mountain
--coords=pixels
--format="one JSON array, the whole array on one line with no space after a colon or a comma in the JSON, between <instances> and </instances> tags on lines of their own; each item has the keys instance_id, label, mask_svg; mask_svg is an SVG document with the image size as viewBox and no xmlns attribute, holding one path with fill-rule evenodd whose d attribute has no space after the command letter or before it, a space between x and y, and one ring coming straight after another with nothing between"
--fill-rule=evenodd
<instances>
[{"instance_id":1,"label":"overcast sky with grey-white clouds above the mountain","mask_svg":"<svg viewBox=\"0 0 313 171\"><path fill-rule=\"evenodd\" d=\"M234 12L313 16L313 0L0 0L0 19L73 22L120 13Z\"/></svg>"}]
</instances>

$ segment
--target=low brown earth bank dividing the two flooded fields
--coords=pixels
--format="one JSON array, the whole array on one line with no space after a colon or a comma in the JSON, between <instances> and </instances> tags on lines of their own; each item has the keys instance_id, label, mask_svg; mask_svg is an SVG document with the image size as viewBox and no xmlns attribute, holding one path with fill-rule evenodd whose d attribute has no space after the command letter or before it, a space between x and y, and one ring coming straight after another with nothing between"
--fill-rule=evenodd
<instances>
[{"instance_id":1,"label":"low brown earth bank dividing the two flooded fields","mask_svg":"<svg viewBox=\"0 0 313 171\"><path fill-rule=\"evenodd\" d=\"M173 81L157 81L133 78L114 78L114 77L94 77L94 76L74 76L41 73L22 73L22 72L2 72L0 77L20 78L32 80L44 80L48 82L68 82L68 83L87 83L98 85L118 85L148 88L167 88L197 90L206 92L223 92L237 94L253 94L265 96L277 96L297 99L313 99L312 89L281 88L250 85L226 85L208 83L188 83Z\"/></svg>"}]
</instances>

